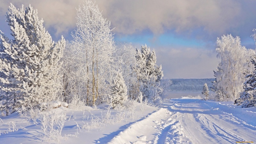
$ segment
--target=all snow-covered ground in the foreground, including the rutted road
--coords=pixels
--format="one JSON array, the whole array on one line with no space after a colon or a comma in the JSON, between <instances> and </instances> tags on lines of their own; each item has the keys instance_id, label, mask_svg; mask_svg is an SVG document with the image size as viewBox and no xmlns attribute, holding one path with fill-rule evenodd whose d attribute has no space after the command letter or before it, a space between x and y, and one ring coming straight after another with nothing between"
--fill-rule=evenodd
<instances>
[{"instance_id":1,"label":"all snow-covered ground in the foreground, including the rutted road","mask_svg":"<svg viewBox=\"0 0 256 144\"><path fill-rule=\"evenodd\" d=\"M159 108L134 105L136 108L129 110L108 109L104 104L98 109L87 107L84 111L64 107L51 109L53 117L66 113L61 134L56 133L61 127L60 119L54 124L56 131L44 134L44 125L40 123L42 115L32 120L28 115L20 117L13 113L0 117L0 143L256 142L256 108L189 98L167 100Z\"/></svg>"}]
</instances>

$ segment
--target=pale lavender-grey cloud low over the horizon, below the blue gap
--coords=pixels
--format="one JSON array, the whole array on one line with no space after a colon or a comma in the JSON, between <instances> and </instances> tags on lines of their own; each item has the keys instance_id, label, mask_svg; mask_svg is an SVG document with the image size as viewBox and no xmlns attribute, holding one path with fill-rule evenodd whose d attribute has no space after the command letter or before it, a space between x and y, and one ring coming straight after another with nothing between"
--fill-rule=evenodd
<instances>
[{"instance_id":1,"label":"pale lavender-grey cloud low over the horizon, below the blue gap","mask_svg":"<svg viewBox=\"0 0 256 144\"><path fill-rule=\"evenodd\" d=\"M159 48L157 64L162 64L167 78L213 78L219 60L216 52L196 48Z\"/></svg>"}]
</instances>

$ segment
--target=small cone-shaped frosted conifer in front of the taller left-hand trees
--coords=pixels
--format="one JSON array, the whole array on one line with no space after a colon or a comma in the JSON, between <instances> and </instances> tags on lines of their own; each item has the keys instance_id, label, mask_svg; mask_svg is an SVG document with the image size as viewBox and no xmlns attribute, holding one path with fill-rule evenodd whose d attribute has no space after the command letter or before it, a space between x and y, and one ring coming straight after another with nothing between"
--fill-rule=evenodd
<instances>
[{"instance_id":1,"label":"small cone-shaped frosted conifer in front of the taller left-hand trees","mask_svg":"<svg viewBox=\"0 0 256 144\"><path fill-rule=\"evenodd\" d=\"M127 100L127 87L121 72L116 73L116 77L112 81L110 88L110 101L114 109L117 105L122 105Z\"/></svg>"}]
</instances>

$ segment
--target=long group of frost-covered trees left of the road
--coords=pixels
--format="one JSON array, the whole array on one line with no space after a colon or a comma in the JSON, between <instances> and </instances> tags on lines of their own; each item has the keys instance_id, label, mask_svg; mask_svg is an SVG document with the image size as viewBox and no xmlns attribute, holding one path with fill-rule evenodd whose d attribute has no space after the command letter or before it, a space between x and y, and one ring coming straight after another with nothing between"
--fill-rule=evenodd
<instances>
[{"instance_id":1,"label":"long group of frost-covered trees left of the road","mask_svg":"<svg viewBox=\"0 0 256 144\"><path fill-rule=\"evenodd\" d=\"M13 39L0 31L0 110L6 115L21 107L60 100L113 108L126 100L157 103L164 87L162 66L147 45L116 44L110 22L95 2L77 8L73 41L52 41L37 10L6 14Z\"/></svg>"}]
</instances>

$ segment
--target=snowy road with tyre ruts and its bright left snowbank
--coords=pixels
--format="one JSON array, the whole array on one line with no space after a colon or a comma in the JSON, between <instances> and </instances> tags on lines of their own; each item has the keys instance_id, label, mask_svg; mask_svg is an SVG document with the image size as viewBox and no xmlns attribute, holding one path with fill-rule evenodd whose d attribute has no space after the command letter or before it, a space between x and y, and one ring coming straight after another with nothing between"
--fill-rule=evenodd
<instances>
[{"instance_id":1,"label":"snowy road with tyre ruts and its bright left snowbank","mask_svg":"<svg viewBox=\"0 0 256 144\"><path fill-rule=\"evenodd\" d=\"M130 125L109 143L256 142L255 136L253 111L231 104L173 99L163 108Z\"/></svg>"}]
</instances>

